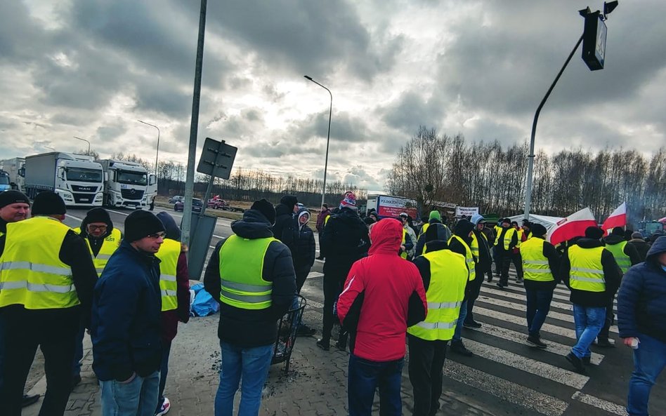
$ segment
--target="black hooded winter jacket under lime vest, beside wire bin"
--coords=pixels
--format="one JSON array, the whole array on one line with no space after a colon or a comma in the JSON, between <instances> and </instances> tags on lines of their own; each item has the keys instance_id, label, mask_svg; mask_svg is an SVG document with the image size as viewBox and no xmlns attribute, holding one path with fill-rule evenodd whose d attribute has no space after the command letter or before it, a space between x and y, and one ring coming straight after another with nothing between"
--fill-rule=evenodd
<instances>
[{"instance_id":1,"label":"black hooded winter jacket under lime vest, beside wire bin","mask_svg":"<svg viewBox=\"0 0 666 416\"><path fill-rule=\"evenodd\" d=\"M270 223L258 210L247 210L243 219L231 223L232 231L243 239L265 239L273 236ZM283 316L296 295L296 274L292 254L285 244L273 241L263 257L261 278L273 282L272 304L268 309L240 309L220 301L220 241L204 274L204 288L220 302L220 323L217 335L223 342L239 347L261 347L278 338L278 319ZM223 259L226 260L226 259ZM229 259L228 261L234 261Z\"/></svg>"}]
</instances>

